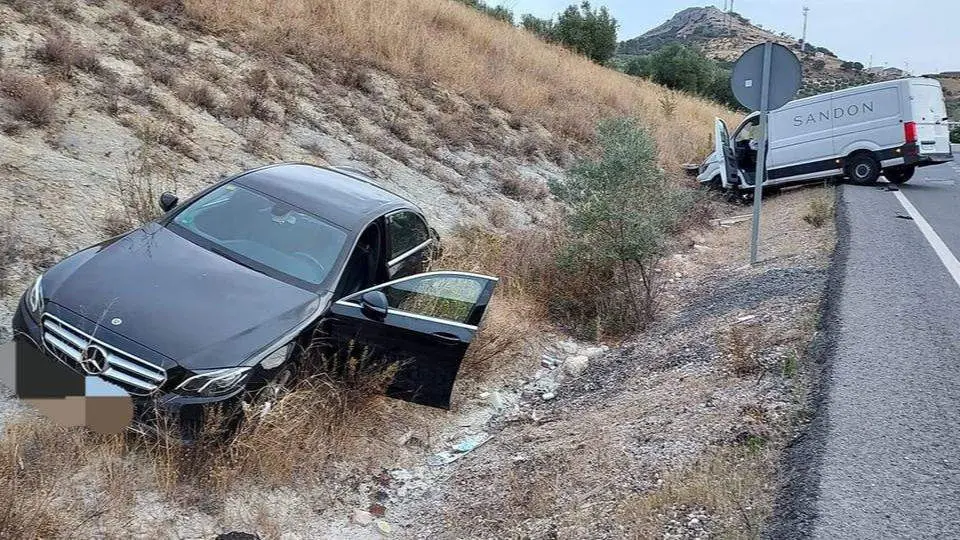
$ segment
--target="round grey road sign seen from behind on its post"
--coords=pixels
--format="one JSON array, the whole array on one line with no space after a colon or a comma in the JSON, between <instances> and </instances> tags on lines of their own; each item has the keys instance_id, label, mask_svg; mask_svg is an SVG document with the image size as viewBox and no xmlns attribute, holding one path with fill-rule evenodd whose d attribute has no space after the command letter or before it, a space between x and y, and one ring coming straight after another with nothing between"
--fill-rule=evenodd
<instances>
[{"instance_id":1,"label":"round grey road sign seen from behind on its post","mask_svg":"<svg viewBox=\"0 0 960 540\"><path fill-rule=\"evenodd\" d=\"M730 86L741 105L751 111L760 110L760 86L763 80L764 43L743 53L733 66ZM800 90L800 60L790 49L772 43L770 50L770 90L767 110L779 109Z\"/></svg>"}]
</instances>

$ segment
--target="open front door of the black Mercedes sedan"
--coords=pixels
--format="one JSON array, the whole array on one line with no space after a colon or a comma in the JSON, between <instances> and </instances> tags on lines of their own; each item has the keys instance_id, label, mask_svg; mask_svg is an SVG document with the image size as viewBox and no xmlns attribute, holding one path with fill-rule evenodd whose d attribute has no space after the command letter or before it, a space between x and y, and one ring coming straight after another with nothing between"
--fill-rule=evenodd
<instances>
[{"instance_id":1,"label":"open front door of the black Mercedes sedan","mask_svg":"<svg viewBox=\"0 0 960 540\"><path fill-rule=\"evenodd\" d=\"M497 278L428 272L338 300L326 321L341 350L397 367L387 395L442 409Z\"/></svg>"}]
</instances>

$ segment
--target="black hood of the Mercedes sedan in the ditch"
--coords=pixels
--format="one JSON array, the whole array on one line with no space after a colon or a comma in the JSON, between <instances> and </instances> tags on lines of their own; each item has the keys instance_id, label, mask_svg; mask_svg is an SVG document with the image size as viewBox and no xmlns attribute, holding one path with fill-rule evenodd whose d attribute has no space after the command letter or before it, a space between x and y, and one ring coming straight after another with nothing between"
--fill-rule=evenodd
<instances>
[{"instance_id":1,"label":"black hood of the Mercedes sedan in the ditch","mask_svg":"<svg viewBox=\"0 0 960 540\"><path fill-rule=\"evenodd\" d=\"M74 254L43 283L48 302L191 370L243 363L321 304L156 224Z\"/></svg>"}]
</instances>

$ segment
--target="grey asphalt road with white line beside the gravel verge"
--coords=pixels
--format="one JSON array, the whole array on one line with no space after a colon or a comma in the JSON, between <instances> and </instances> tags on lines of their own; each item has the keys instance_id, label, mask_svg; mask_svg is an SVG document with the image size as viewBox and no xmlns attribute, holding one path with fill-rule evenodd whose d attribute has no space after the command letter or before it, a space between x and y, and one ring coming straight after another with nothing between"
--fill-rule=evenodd
<instances>
[{"instance_id":1,"label":"grey asphalt road with white line beside the gravel verge","mask_svg":"<svg viewBox=\"0 0 960 540\"><path fill-rule=\"evenodd\" d=\"M839 210L817 419L773 536L960 538L960 165L843 186Z\"/></svg>"}]
</instances>

